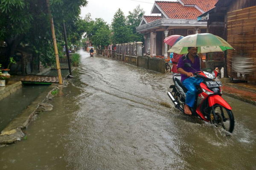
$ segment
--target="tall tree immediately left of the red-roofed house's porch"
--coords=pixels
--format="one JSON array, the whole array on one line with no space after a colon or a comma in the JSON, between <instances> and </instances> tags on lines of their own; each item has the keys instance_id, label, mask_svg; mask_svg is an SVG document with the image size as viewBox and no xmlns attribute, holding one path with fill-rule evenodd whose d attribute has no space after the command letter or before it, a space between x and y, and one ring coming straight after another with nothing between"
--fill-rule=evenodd
<instances>
[{"instance_id":1,"label":"tall tree immediately left of the red-roofed house's porch","mask_svg":"<svg viewBox=\"0 0 256 170\"><path fill-rule=\"evenodd\" d=\"M140 25L140 21L143 18L145 11L140 8L138 5L133 12L129 11L129 15L127 16L128 28L132 30L131 40L133 41L144 41L144 35L136 32L136 27Z\"/></svg>"}]
</instances>

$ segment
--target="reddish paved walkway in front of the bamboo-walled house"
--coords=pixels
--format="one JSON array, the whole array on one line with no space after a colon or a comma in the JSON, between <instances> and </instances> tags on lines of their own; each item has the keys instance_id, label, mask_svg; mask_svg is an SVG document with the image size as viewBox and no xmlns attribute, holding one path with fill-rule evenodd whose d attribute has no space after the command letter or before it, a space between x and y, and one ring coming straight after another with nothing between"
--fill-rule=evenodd
<instances>
[{"instance_id":1,"label":"reddish paved walkway in front of the bamboo-walled house","mask_svg":"<svg viewBox=\"0 0 256 170\"><path fill-rule=\"evenodd\" d=\"M223 94L256 105L256 83L223 83Z\"/></svg>"}]
</instances>

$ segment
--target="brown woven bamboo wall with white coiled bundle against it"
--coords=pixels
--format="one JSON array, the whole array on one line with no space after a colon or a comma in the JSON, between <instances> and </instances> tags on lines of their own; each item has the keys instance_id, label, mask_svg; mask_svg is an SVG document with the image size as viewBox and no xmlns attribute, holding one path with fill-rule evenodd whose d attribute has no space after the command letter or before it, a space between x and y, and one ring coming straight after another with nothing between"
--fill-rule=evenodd
<instances>
[{"instance_id":1,"label":"brown woven bamboo wall with white coiled bundle against it","mask_svg":"<svg viewBox=\"0 0 256 170\"><path fill-rule=\"evenodd\" d=\"M228 75L256 81L256 6L227 12L227 42Z\"/></svg>"}]
</instances>

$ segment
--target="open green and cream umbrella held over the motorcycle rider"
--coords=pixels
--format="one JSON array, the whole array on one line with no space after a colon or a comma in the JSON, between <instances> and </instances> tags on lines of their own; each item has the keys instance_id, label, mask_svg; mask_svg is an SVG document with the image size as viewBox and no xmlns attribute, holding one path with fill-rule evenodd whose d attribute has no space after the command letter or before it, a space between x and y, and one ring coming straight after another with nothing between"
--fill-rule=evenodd
<instances>
[{"instance_id":1,"label":"open green and cream umbrella held over the motorcycle rider","mask_svg":"<svg viewBox=\"0 0 256 170\"><path fill-rule=\"evenodd\" d=\"M167 52L188 53L188 47L198 47L198 53L220 52L234 49L227 41L213 34L193 34L177 41Z\"/></svg>"}]
</instances>

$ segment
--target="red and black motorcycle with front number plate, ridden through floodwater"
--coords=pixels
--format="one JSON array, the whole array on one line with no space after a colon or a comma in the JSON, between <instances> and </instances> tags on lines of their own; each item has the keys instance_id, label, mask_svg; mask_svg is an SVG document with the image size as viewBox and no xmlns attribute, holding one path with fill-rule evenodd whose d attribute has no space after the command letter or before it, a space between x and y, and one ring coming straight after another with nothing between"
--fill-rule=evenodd
<instances>
[{"instance_id":1,"label":"red and black motorcycle with front number plate, ridden through floodwater","mask_svg":"<svg viewBox=\"0 0 256 170\"><path fill-rule=\"evenodd\" d=\"M191 67L190 63L185 63L185 67ZM193 68L192 68L193 69ZM232 133L235 125L232 108L221 97L221 81L214 81L217 72L212 69L202 69L196 71L194 77L204 79L204 82L196 87L197 98L195 105L191 108L192 117L211 122L216 127L222 126L225 130ZM174 85L170 86L172 92L168 92L168 96L175 105L175 108L184 113L184 105L186 100L187 89L182 85L180 74L173 75Z\"/></svg>"}]
</instances>

